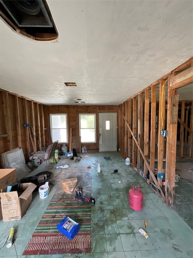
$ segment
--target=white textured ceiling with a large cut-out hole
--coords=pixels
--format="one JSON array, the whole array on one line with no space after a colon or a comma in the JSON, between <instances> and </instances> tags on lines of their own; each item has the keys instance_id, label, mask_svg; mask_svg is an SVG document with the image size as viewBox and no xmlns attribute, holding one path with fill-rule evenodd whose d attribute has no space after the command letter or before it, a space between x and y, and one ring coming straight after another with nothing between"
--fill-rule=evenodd
<instances>
[{"instance_id":1,"label":"white textured ceiling with a large cut-out hole","mask_svg":"<svg viewBox=\"0 0 193 258\"><path fill-rule=\"evenodd\" d=\"M49 105L118 105L193 55L192 1L47 3L57 42L0 20L0 88Z\"/></svg>"}]
</instances>

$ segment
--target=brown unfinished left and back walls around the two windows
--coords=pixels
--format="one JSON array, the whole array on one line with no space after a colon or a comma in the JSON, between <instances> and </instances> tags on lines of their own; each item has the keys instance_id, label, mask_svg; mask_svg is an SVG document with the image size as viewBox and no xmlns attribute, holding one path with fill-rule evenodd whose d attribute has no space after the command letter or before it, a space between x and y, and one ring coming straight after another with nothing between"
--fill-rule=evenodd
<instances>
[{"instance_id":1,"label":"brown unfinished left and back walls around the two windows","mask_svg":"<svg viewBox=\"0 0 193 258\"><path fill-rule=\"evenodd\" d=\"M26 163L30 152L52 144L49 130L50 113L67 113L69 149L70 129L72 136L79 136L79 113L96 114L96 143L82 143L87 151L99 150L98 113L117 112L118 106L46 106L33 100L0 89L0 154L20 147ZM25 127L24 124L29 124ZM60 148L60 144L57 146ZM0 168L2 165L0 163Z\"/></svg>"}]
</instances>

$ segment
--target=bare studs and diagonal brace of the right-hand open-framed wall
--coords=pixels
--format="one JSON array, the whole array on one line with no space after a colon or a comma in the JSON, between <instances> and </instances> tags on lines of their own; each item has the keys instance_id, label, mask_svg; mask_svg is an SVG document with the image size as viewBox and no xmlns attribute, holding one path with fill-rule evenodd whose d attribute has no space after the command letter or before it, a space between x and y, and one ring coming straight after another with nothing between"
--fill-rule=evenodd
<instances>
[{"instance_id":1,"label":"bare studs and diagonal brace of the right-hand open-framed wall","mask_svg":"<svg viewBox=\"0 0 193 258\"><path fill-rule=\"evenodd\" d=\"M175 168L176 168L176 143L177 143L177 122L180 122L181 124L181 146L184 144L183 142L183 136L182 132L185 130L185 143L186 139L187 146L188 146L188 155L191 155L192 153L192 100L188 101L182 101L182 109L184 109L184 106L188 106L189 110L186 111L186 114L183 114L180 119L178 117L178 94L177 89L179 87L184 87L185 85L193 82L192 77L192 64L193 64L193 58L191 60L188 60L181 66L177 67L170 73L166 74L156 82L152 83L150 86L145 88L144 90L140 91L139 93L136 93L134 96L132 96L130 99L125 101L125 105L123 108L123 105L119 105L119 116L122 116L122 119L119 119L119 122L121 122L121 127L125 129L125 124L129 128L129 132L131 133L131 141L129 141L129 149L132 149L132 162L134 169L141 174L143 173L144 179L147 181L149 185L152 186L152 188L157 191L157 193L160 194L162 199L166 199L166 203L169 206L173 205L174 202L174 194L175 194ZM186 69L186 70L185 70ZM168 92L167 92L167 103L165 103L165 85L166 80L168 80ZM160 87L160 94L159 94L159 100L157 102L156 100L156 88L159 84ZM151 94L151 105L150 105L150 114L148 113L148 91L150 90ZM145 101L143 101L143 94L145 93ZM132 126L130 120L127 120L127 112L126 110L129 110L129 103L132 101L133 103L133 113L132 113ZM138 104L137 104L138 103ZM159 104L159 107L157 105ZM189 103L189 104L188 104ZM167 105L168 106L167 106ZM136 108L138 105L138 108ZM144 105L144 123L141 119L143 116L143 105ZM191 105L191 106L190 106ZM142 107L142 108L141 108ZM165 122L166 119L166 108L167 108L167 125ZM190 111L191 110L191 111ZM191 114L190 114L191 112ZM158 121L156 121L156 113L158 115ZM185 116L186 115L186 116ZM185 116L185 121L184 121ZM148 121L150 117L150 123ZM123 124L123 119L125 121L125 124ZM130 116L129 116L130 119ZM150 128L149 128L150 124ZM156 129L157 124L157 129ZM143 125L143 127L141 126ZM118 126L120 129L120 126ZM132 129L131 129L132 128ZM160 130L167 130L167 138L164 136L161 136ZM126 132L127 129L125 129ZM158 137L158 148L156 146L156 130L157 131L157 137ZM148 148L147 148L147 142L150 132L150 142ZM138 132L138 141L135 139L135 135L137 135ZM144 142L140 142L140 136L141 133L144 133ZM125 137L125 135L119 134L119 137ZM142 138L143 139L143 138ZM119 139L121 141L121 139ZM164 145L166 142L166 186L165 186L165 196L163 196L162 188L162 179L156 179L155 175L153 174L154 168L155 168L155 160L158 161L158 173L162 173L163 169L163 157L164 157ZM126 146L124 146L124 141L122 143L121 148L124 150ZM137 152L138 147L138 152ZM158 152L156 152L156 148ZM147 150L148 149L148 150ZM122 152L121 152L122 153ZM183 148L181 147L181 156L187 155L183 153ZM157 155L157 157L156 157ZM141 171L141 159L143 158L142 164L144 165L143 171ZM147 161L150 160L150 165ZM150 158L150 159L149 159ZM138 162L137 162L138 161ZM146 177L147 170L150 172L149 179Z\"/></svg>"}]
</instances>

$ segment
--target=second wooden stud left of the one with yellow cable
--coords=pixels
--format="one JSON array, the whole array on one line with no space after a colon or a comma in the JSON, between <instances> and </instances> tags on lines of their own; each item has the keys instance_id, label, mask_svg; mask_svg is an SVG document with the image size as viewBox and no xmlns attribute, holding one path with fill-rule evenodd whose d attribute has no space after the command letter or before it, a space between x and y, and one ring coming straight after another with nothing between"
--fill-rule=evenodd
<instances>
[{"instance_id":1,"label":"second wooden stud left of the one with yellow cable","mask_svg":"<svg viewBox=\"0 0 193 258\"><path fill-rule=\"evenodd\" d=\"M144 156L148 160L149 154L149 110L150 109L150 90L145 91L144 106ZM144 163L144 175L147 176L148 168Z\"/></svg>"}]
</instances>

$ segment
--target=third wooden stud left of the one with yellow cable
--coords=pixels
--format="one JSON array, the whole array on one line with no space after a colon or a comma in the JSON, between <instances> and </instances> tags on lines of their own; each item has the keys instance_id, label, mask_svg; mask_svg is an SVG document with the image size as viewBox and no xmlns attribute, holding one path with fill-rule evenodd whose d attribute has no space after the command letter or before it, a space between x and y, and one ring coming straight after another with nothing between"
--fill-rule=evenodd
<instances>
[{"instance_id":1,"label":"third wooden stud left of the one with yellow cable","mask_svg":"<svg viewBox=\"0 0 193 258\"><path fill-rule=\"evenodd\" d=\"M138 144L143 150L143 93L138 96ZM138 149L138 169L141 170L143 168L143 158L140 155L140 151Z\"/></svg>"}]
</instances>

